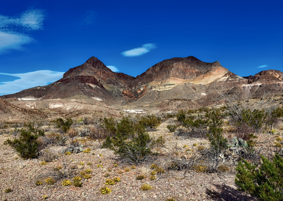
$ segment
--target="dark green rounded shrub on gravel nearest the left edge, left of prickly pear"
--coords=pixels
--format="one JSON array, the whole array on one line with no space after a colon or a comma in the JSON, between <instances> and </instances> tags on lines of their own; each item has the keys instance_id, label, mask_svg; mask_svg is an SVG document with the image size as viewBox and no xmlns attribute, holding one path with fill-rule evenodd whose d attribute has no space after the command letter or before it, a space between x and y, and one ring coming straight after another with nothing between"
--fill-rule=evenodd
<instances>
[{"instance_id":1,"label":"dark green rounded shrub on gravel nearest the left edge, left of prickly pear","mask_svg":"<svg viewBox=\"0 0 283 201\"><path fill-rule=\"evenodd\" d=\"M29 125L28 130L21 129L20 132L18 138L13 140L8 138L4 144L12 146L23 159L36 158L40 151L37 139L40 135L44 135L44 131L37 130Z\"/></svg>"}]
</instances>

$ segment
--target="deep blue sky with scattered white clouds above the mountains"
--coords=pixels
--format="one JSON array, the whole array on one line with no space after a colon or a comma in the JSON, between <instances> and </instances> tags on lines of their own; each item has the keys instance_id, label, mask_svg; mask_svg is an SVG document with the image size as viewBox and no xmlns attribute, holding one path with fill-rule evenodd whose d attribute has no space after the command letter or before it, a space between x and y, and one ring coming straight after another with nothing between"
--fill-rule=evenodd
<instances>
[{"instance_id":1,"label":"deep blue sky with scattered white clouds above the mountains","mask_svg":"<svg viewBox=\"0 0 283 201\"><path fill-rule=\"evenodd\" d=\"M137 76L195 56L240 76L283 66L282 0L0 3L0 95L60 79L97 57Z\"/></svg>"}]
</instances>

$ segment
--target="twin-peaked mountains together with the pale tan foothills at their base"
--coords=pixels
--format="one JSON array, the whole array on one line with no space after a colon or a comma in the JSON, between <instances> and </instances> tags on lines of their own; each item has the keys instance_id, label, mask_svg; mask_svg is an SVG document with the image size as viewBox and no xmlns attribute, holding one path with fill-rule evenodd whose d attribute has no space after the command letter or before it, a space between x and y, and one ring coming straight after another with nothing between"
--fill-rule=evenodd
<instances>
[{"instance_id":1,"label":"twin-peaked mountains together with the pale tan foothills at their base","mask_svg":"<svg viewBox=\"0 0 283 201\"><path fill-rule=\"evenodd\" d=\"M282 95L282 72L266 70L240 77L218 61L189 56L159 62L135 78L112 72L91 57L52 84L1 97L20 108L42 109L50 118L55 114L103 117L118 116L122 110L158 113L201 108L211 105L221 91L240 99ZM14 119L7 112L1 118Z\"/></svg>"}]
</instances>

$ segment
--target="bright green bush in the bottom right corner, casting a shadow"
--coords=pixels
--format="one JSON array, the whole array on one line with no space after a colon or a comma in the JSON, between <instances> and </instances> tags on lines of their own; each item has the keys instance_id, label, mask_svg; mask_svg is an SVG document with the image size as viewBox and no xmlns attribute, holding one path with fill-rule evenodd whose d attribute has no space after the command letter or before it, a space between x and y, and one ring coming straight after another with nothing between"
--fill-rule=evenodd
<instances>
[{"instance_id":1,"label":"bright green bush in the bottom right corner, casting a shadow","mask_svg":"<svg viewBox=\"0 0 283 201\"><path fill-rule=\"evenodd\" d=\"M283 200L283 158L275 154L273 162L264 156L262 165L254 165L245 160L237 165L235 183L239 190L259 200Z\"/></svg>"}]
</instances>

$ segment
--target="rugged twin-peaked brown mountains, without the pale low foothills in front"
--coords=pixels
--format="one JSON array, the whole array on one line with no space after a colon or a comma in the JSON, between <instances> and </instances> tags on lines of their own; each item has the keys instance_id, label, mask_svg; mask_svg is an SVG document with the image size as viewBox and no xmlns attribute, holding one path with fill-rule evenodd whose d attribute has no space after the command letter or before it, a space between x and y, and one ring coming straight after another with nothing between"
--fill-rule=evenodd
<instances>
[{"instance_id":1,"label":"rugged twin-peaked brown mountains, without the pale low foothills in front","mask_svg":"<svg viewBox=\"0 0 283 201\"><path fill-rule=\"evenodd\" d=\"M91 57L80 66L70 68L62 79L54 83L0 97L62 99L83 95L103 101L107 105L123 104L130 100L139 100L140 104L150 100L158 104L176 97L195 101L207 99L211 97L209 94L223 89L237 89L237 94L246 94L255 84L267 86L279 83L279 88L273 90L276 94L283 90L280 82L282 72L278 70L261 71L254 76L241 77L221 66L218 61L202 62L193 56L163 60L136 77L113 72L98 58ZM251 87L244 89L246 85ZM256 93L257 90L252 91ZM247 95L243 98L247 98Z\"/></svg>"}]
</instances>

